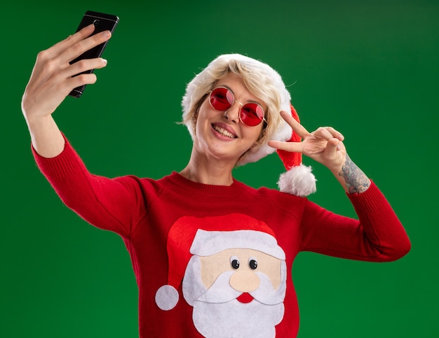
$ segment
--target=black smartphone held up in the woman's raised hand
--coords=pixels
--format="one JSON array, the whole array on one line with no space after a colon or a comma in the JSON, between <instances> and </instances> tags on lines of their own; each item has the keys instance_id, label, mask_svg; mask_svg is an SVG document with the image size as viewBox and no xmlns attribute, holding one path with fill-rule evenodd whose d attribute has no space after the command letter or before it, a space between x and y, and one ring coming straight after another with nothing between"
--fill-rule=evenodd
<instances>
[{"instance_id":1,"label":"black smartphone held up in the woman's raised hand","mask_svg":"<svg viewBox=\"0 0 439 338\"><path fill-rule=\"evenodd\" d=\"M101 31L111 31L113 32L116 28L116 25L119 22L119 17L116 17L116 15L109 15L104 13L97 13L92 12L91 10L88 10L81 22L79 23L78 29L76 31L79 31L83 29L84 27L88 26L89 24L95 24L95 31L93 31L93 34L100 33ZM90 50L87 50L83 54L79 55L79 57L76 57L76 59L69 62L70 64L74 64L75 62L78 62L81 59L94 59L95 57L100 57L102 55L102 52L104 52L104 48L107 45L107 41L104 43L101 43L100 45L97 45L96 47L93 47ZM81 74L84 73L93 73L94 69L90 69L88 71L83 71ZM76 74L79 75L79 74ZM70 96L72 97L81 97L84 89L86 88L86 85L81 85L80 87L76 87L72 92L70 92Z\"/></svg>"}]
</instances>

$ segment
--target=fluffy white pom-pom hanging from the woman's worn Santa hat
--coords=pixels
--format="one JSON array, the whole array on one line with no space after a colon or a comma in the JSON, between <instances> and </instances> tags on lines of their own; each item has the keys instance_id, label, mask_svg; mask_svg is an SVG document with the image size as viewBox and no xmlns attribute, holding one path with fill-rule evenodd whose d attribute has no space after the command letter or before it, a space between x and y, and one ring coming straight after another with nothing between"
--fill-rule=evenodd
<instances>
[{"instance_id":1,"label":"fluffy white pom-pom hanging from the woman's worn Santa hat","mask_svg":"<svg viewBox=\"0 0 439 338\"><path fill-rule=\"evenodd\" d=\"M278 186L282 192L305 197L316 192L316 177L311 173L311 167L300 164L281 174Z\"/></svg>"}]
</instances>

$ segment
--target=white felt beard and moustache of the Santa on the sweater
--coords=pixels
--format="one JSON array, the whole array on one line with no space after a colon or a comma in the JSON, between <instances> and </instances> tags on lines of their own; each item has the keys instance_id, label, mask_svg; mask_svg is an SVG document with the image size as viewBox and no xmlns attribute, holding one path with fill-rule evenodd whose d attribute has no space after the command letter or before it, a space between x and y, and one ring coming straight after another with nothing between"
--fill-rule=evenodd
<instances>
[{"instance_id":1,"label":"white felt beard and moustache of the Santa on the sweater","mask_svg":"<svg viewBox=\"0 0 439 338\"><path fill-rule=\"evenodd\" d=\"M250 295L251 302L236 298L242 293L229 284L234 271L220 274L206 289L201 281L200 258L192 256L183 279L184 299L194 307L192 319L198 332L206 338L241 337L270 338L276 336L275 326L281 323L286 290L286 265L281 264L281 286L274 290L268 276L257 273L260 284Z\"/></svg>"}]
</instances>

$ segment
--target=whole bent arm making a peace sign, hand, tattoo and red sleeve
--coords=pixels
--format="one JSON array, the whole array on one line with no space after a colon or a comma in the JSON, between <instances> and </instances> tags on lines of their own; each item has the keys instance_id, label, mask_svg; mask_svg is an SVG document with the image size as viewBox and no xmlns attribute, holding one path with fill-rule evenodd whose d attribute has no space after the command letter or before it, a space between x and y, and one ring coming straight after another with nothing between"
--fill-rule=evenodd
<instances>
[{"instance_id":1,"label":"whole bent arm making a peace sign, hand, tattoo and red sleeve","mask_svg":"<svg viewBox=\"0 0 439 338\"><path fill-rule=\"evenodd\" d=\"M291 115L281 112L302 142L269 141L269 146L303 153L325 165L342 184L358 220L306 202L301 250L353 260L385 262L410 251L410 239L389 202L346 153L344 136L332 127L309 133Z\"/></svg>"}]
</instances>

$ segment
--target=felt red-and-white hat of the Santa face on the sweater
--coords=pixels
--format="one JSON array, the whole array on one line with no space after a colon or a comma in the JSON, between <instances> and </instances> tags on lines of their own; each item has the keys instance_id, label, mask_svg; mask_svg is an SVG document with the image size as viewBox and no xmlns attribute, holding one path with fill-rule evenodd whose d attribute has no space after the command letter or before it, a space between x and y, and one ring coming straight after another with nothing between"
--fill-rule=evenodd
<instances>
[{"instance_id":1,"label":"felt red-and-white hat of the Santa face on the sweater","mask_svg":"<svg viewBox=\"0 0 439 338\"><path fill-rule=\"evenodd\" d=\"M221 227L221 231L218 231ZM214 255L229 248L252 248L285 260L273 230L261 220L241 213L196 218L182 217L168 233L168 283L158 288L156 304L162 310L173 309L180 295L184 272L192 255Z\"/></svg>"}]
</instances>

